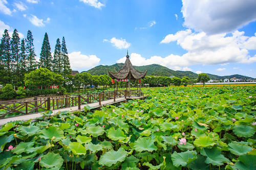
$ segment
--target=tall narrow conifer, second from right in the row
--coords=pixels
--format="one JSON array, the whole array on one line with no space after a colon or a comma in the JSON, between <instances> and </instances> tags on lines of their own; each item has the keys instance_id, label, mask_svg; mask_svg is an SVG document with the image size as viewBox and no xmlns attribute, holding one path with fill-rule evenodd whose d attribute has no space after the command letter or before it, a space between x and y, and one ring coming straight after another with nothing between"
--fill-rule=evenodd
<instances>
[{"instance_id":1,"label":"tall narrow conifer, second from right in the row","mask_svg":"<svg viewBox=\"0 0 256 170\"><path fill-rule=\"evenodd\" d=\"M62 65L62 55L61 55L61 45L59 38L56 41L54 55L53 55L53 71L56 74L62 75L63 65Z\"/></svg>"}]
</instances>

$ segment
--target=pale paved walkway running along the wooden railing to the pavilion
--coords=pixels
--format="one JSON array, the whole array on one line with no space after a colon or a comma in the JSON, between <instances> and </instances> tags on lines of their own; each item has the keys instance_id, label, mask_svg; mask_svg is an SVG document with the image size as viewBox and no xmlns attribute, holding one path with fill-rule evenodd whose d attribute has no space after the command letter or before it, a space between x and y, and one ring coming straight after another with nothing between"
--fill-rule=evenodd
<instances>
[{"instance_id":1,"label":"pale paved walkway running along the wooden railing to the pavilion","mask_svg":"<svg viewBox=\"0 0 256 170\"><path fill-rule=\"evenodd\" d=\"M132 99L132 98L130 98ZM93 109L97 109L97 108L100 108L102 106L106 106L106 105L112 105L112 104L115 104L115 103L120 103L120 102L125 102L126 99L124 97L122 98L116 98L116 101L114 102L114 99L111 99L111 100L107 100L107 101L102 101L101 102L101 105L99 105L98 102L96 103L90 103L90 104L86 104L90 107L92 107ZM86 105L81 105L81 110L80 111L83 111L83 107L86 106ZM77 111L78 110L78 106L74 106L74 107L69 107L69 108L63 108L63 109L58 109L58 110L52 110L52 115L56 114L57 112L61 112L61 111ZM29 119L32 119L32 121L34 121L36 118L38 117L41 117L42 114L41 113L34 113L34 114L27 114L27 115L20 115L20 116L15 116L15 117L10 117L10 118L4 118L4 119L0 119L0 126L3 126L5 124L7 124L8 122L13 122L13 121L16 121L16 120L24 120L24 121L27 121Z\"/></svg>"}]
</instances>

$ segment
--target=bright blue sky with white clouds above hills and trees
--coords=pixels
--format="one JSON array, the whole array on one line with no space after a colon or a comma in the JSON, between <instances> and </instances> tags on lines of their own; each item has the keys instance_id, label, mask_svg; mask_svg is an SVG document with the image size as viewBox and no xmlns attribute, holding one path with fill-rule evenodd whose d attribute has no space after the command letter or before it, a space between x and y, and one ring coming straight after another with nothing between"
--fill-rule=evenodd
<instances>
[{"instance_id":1,"label":"bright blue sky with white clouds above hills and trees","mask_svg":"<svg viewBox=\"0 0 256 170\"><path fill-rule=\"evenodd\" d=\"M256 78L256 1L0 0L0 33L66 39L71 67L123 62Z\"/></svg>"}]
</instances>

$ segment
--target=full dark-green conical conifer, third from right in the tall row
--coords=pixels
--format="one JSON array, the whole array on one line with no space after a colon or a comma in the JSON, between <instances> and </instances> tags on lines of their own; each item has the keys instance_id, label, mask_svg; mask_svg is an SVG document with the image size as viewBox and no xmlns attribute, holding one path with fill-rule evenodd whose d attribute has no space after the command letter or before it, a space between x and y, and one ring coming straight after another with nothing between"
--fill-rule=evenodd
<instances>
[{"instance_id":1,"label":"full dark-green conical conifer, third from right in the tall row","mask_svg":"<svg viewBox=\"0 0 256 170\"><path fill-rule=\"evenodd\" d=\"M52 54L47 33L45 34L44 41L42 42L40 53L40 65L43 68L52 70Z\"/></svg>"}]
</instances>

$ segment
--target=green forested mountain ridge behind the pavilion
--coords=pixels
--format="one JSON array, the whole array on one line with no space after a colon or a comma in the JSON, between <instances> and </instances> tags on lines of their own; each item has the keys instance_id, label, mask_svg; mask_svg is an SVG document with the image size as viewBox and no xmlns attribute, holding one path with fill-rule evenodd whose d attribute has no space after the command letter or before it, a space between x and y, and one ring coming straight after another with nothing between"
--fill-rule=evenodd
<instances>
[{"instance_id":1,"label":"green forested mountain ridge behind the pavilion","mask_svg":"<svg viewBox=\"0 0 256 170\"><path fill-rule=\"evenodd\" d=\"M112 72L117 72L119 69L122 68L122 66L123 66L123 63L117 63L113 65L99 65L99 66L93 67L87 72L89 72L91 75L104 75L104 74L108 75L108 70ZM178 71L178 70L175 71L159 64L134 66L134 68L137 69L138 71L147 70L147 74L146 74L147 76L148 75L167 76L167 77L175 76L179 78L186 76L191 79L196 79L198 76L195 72L192 72L192 71ZM243 78L250 79L250 77L242 76L242 75L231 75L231 76L217 76L217 75L211 75L211 74L207 74L207 75L210 77L210 79L215 79L215 80L230 79L233 77L238 79L243 79Z\"/></svg>"}]
</instances>

